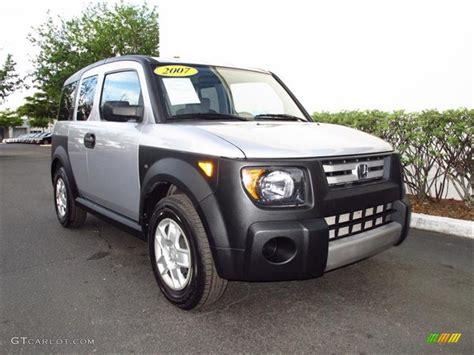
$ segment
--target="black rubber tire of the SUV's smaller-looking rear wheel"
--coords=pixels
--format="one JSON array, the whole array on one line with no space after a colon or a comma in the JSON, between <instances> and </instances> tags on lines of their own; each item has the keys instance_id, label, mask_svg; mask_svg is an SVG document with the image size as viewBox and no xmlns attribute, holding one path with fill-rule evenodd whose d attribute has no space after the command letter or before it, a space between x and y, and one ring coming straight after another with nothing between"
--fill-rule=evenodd
<instances>
[{"instance_id":1,"label":"black rubber tire of the SUV's smaller-looking rear wheel","mask_svg":"<svg viewBox=\"0 0 474 355\"><path fill-rule=\"evenodd\" d=\"M65 186L66 204L64 212L60 213L60 207L58 206L57 186L59 181L62 181ZM58 217L59 223L66 228L80 228L84 225L87 217L87 212L82 208L78 207L74 201L73 194L71 191L71 185L67 178L66 170L61 166L54 173L54 208L56 210L56 216Z\"/></svg>"}]
</instances>

